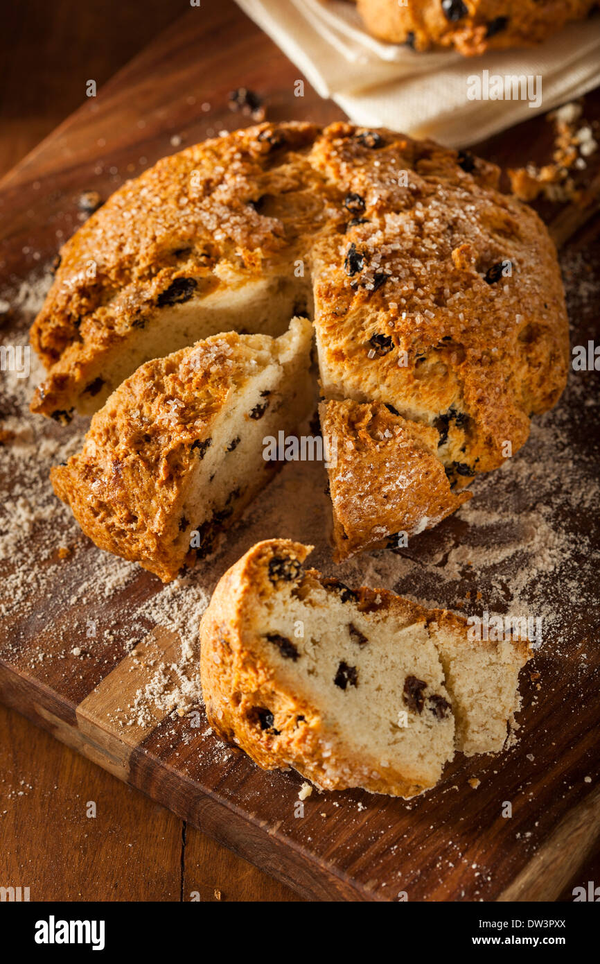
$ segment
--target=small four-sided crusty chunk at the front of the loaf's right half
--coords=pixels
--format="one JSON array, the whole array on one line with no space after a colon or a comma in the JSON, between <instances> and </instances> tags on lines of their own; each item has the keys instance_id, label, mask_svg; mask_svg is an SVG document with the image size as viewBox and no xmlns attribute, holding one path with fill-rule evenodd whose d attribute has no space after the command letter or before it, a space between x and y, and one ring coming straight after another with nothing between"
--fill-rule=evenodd
<instances>
[{"instance_id":1,"label":"small four-sided crusty chunk at the front of the loaf's right half","mask_svg":"<svg viewBox=\"0 0 600 964\"><path fill-rule=\"evenodd\" d=\"M332 453L335 562L398 545L399 533L416 535L471 498L452 491L433 426L406 421L385 405L349 400L322 402L319 414Z\"/></svg>"}]
</instances>

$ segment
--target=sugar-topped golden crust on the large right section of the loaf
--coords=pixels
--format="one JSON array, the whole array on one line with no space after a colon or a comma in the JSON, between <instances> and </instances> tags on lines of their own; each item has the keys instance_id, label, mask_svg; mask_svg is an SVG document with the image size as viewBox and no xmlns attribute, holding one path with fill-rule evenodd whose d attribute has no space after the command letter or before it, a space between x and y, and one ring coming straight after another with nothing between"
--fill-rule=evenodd
<instances>
[{"instance_id":1,"label":"sugar-topped golden crust on the large right section of the loaf","mask_svg":"<svg viewBox=\"0 0 600 964\"><path fill-rule=\"evenodd\" d=\"M367 219L321 239L315 254L324 393L429 424L459 413L465 450L452 461L471 474L496 468L566 382L568 325L548 232L470 155L461 163L475 176L441 148L379 149L371 192L352 155L337 138L324 159L328 176L366 198Z\"/></svg>"}]
</instances>

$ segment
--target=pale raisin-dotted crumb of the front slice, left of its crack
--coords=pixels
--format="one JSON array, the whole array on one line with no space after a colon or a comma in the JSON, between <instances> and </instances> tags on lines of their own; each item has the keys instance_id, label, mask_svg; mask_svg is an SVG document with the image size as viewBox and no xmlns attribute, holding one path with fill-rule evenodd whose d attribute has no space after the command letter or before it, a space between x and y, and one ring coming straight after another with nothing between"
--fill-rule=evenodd
<instances>
[{"instance_id":1,"label":"pale raisin-dotted crumb of the front slice, left of its crack","mask_svg":"<svg viewBox=\"0 0 600 964\"><path fill-rule=\"evenodd\" d=\"M361 612L352 600L342 602L344 595L314 577L299 592L282 587L258 608L248 647L272 666L277 687L300 691L318 713L324 786L340 776L352 786L352 766L344 772L337 752L341 744L368 762L372 780L394 781L401 774L433 786L454 755L454 719L425 621L402 609ZM425 684L417 687L419 697L410 695L415 680ZM274 729L283 730L288 721L279 715Z\"/></svg>"}]
</instances>

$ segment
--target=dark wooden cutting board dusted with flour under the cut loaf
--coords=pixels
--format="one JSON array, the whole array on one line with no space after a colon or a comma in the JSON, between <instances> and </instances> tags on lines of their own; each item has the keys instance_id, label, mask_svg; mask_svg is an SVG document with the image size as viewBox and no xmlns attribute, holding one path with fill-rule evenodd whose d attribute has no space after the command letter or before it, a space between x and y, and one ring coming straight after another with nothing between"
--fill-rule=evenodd
<instances>
[{"instance_id":1,"label":"dark wooden cutting board dusted with flour under the cut loaf","mask_svg":"<svg viewBox=\"0 0 600 964\"><path fill-rule=\"evenodd\" d=\"M84 217L83 190L106 198L164 154L244 125L227 107L239 86L266 95L270 120L342 117L307 84L295 97L298 78L237 7L215 0L191 9L66 120L0 183L6 343L25 343L44 272ZM596 92L586 117L598 116ZM536 119L477 149L519 165L547 158L549 148L550 125ZM562 246L573 343L587 344L600 303L594 197L584 211L540 209ZM378 553L335 573L465 612L504 611L517 600L534 615L543 610L549 629L521 677L513 744L500 757L457 758L436 790L412 802L315 790L302 807L297 774L264 773L224 748L201 709L179 715L164 700L133 715L131 708L162 665L181 666L178 628L196 635L202 600L256 539L313 542L315 564L334 575L322 467L286 466L210 564L165 590L73 534L66 513L52 509L48 449L81 425L27 422L21 389L33 390L33 375L16 392L4 372L0 379L0 438L14 449L0 522L0 535L13 533L13 549L0 557L3 702L304 897L553 899L577 882L600 841L598 442L589 404L597 372L573 376L514 466L478 480L475 512L424 533L402 554ZM28 467L19 462L20 445L29 446ZM39 451L33 469L32 446ZM32 500L45 494L41 509L31 511L29 492ZM195 666L193 656L185 672L193 677Z\"/></svg>"}]
</instances>

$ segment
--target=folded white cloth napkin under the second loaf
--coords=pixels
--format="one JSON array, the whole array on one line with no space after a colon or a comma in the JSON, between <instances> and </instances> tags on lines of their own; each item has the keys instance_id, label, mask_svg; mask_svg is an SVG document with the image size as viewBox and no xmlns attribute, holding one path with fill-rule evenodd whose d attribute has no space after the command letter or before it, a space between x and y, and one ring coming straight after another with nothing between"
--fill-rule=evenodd
<instances>
[{"instance_id":1,"label":"folded white cloth napkin under the second loaf","mask_svg":"<svg viewBox=\"0 0 600 964\"><path fill-rule=\"evenodd\" d=\"M600 16L569 24L540 46L462 57L376 40L354 5L340 0L237 3L353 123L432 137L449 147L481 141L600 84ZM541 76L541 104L467 99L469 77L483 70Z\"/></svg>"}]
</instances>

